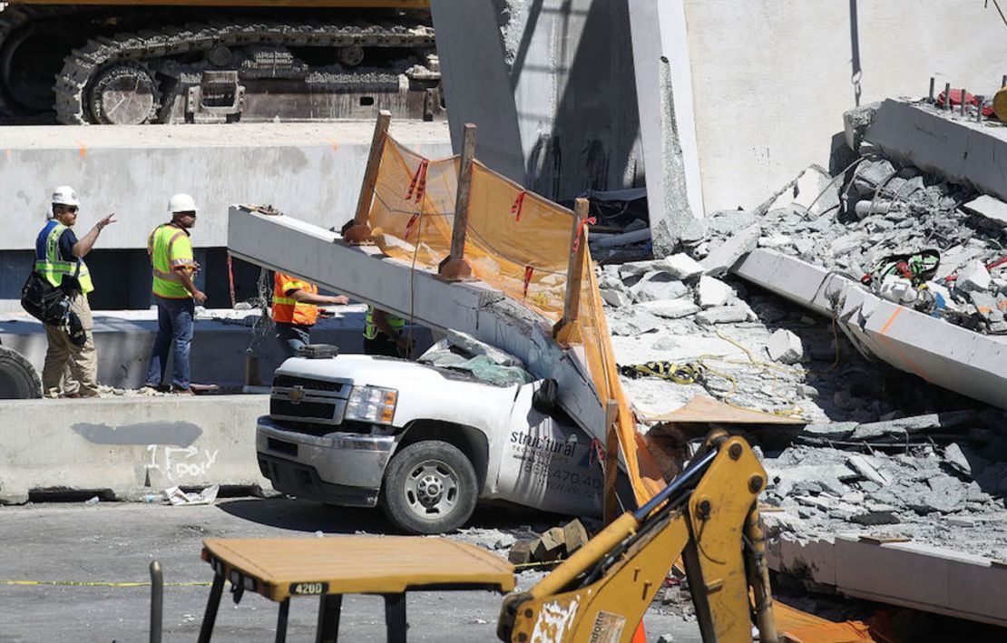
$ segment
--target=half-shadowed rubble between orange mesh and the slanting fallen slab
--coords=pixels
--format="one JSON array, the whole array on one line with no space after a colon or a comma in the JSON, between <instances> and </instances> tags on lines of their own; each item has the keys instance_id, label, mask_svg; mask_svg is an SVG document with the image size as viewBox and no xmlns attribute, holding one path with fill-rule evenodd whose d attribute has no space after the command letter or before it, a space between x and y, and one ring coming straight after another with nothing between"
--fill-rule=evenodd
<instances>
[{"instance_id":1,"label":"half-shadowed rubble between orange mesh and the slanting fallen slab","mask_svg":"<svg viewBox=\"0 0 1007 643\"><path fill-rule=\"evenodd\" d=\"M600 269L620 366L667 361L700 373L679 382L623 375L641 415L675 411L697 394L816 422L836 416L870 422L903 410L873 394L884 378L826 320L735 278L703 273L684 254ZM882 372L899 377L886 367ZM905 408L929 404L923 395L904 399Z\"/></svg>"}]
</instances>

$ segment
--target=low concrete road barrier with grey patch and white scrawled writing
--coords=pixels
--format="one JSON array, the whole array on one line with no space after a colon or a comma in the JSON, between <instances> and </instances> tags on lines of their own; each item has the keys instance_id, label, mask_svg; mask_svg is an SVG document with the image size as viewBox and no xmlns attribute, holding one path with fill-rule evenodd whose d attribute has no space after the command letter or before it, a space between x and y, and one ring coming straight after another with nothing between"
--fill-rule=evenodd
<instances>
[{"instance_id":1,"label":"low concrete road barrier with grey patch and white scrawled writing","mask_svg":"<svg viewBox=\"0 0 1007 643\"><path fill-rule=\"evenodd\" d=\"M256 418L268 395L0 401L0 502L39 491L139 499L175 485L268 488Z\"/></svg>"}]
</instances>

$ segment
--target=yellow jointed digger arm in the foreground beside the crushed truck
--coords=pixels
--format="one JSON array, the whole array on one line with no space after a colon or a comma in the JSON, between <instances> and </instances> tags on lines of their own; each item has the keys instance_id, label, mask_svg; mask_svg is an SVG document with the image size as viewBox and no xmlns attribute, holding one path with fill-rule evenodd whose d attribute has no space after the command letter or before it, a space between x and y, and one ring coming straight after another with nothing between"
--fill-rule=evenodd
<instances>
[{"instance_id":1,"label":"yellow jointed digger arm in the foreground beside the crushed truck","mask_svg":"<svg viewBox=\"0 0 1007 643\"><path fill-rule=\"evenodd\" d=\"M659 495L624 513L528 592L503 600L502 641L629 643L681 556L703 640L776 643L757 498L765 470L714 432Z\"/></svg>"}]
</instances>

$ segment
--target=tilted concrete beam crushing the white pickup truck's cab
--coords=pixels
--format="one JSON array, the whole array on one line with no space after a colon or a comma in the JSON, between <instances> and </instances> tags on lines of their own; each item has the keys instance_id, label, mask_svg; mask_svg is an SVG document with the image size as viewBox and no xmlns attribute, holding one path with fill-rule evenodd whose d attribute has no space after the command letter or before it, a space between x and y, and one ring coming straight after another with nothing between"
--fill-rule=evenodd
<instances>
[{"instance_id":1,"label":"tilted concrete beam crushing the white pickup truck's cab","mask_svg":"<svg viewBox=\"0 0 1007 643\"><path fill-rule=\"evenodd\" d=\"M604 440L604 412L584 360L552 339L552 326L481 282L446 283L386 257L349 247L327 229L290 216L233 206L228 248L236 257L288 272L383 308L417 324L458 330L521 358L537 377L559 384L559 401L580 427Z\"/></svg>"}]
</instances>

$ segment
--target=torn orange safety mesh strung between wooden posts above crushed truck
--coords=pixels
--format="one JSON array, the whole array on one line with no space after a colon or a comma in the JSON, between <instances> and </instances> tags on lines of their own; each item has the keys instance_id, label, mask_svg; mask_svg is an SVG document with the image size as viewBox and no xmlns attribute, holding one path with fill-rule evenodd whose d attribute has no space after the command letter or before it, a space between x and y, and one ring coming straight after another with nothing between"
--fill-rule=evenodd
<instances>
[{"instance_id":1,"label":"torn orange safety mesh strung between wooden posts above crushed truck","mask_svg":"<svg viewBox=\"0 0 1007 643\"><path fill-rule=\"evenodd\" d=\"M368 223L389 257L436 271L451 250L457 156L429 160L385 136ZM563 316L573 213L496 174L472 164L465 260L473 275L556 322ZM587 251L581 266L580 315L574 339L583 345L587 368L602 405L618 403L619 445L637 503L665 487L660 468L636 431L622 391L608 325Z\"/></svg>"}]
</instances>

